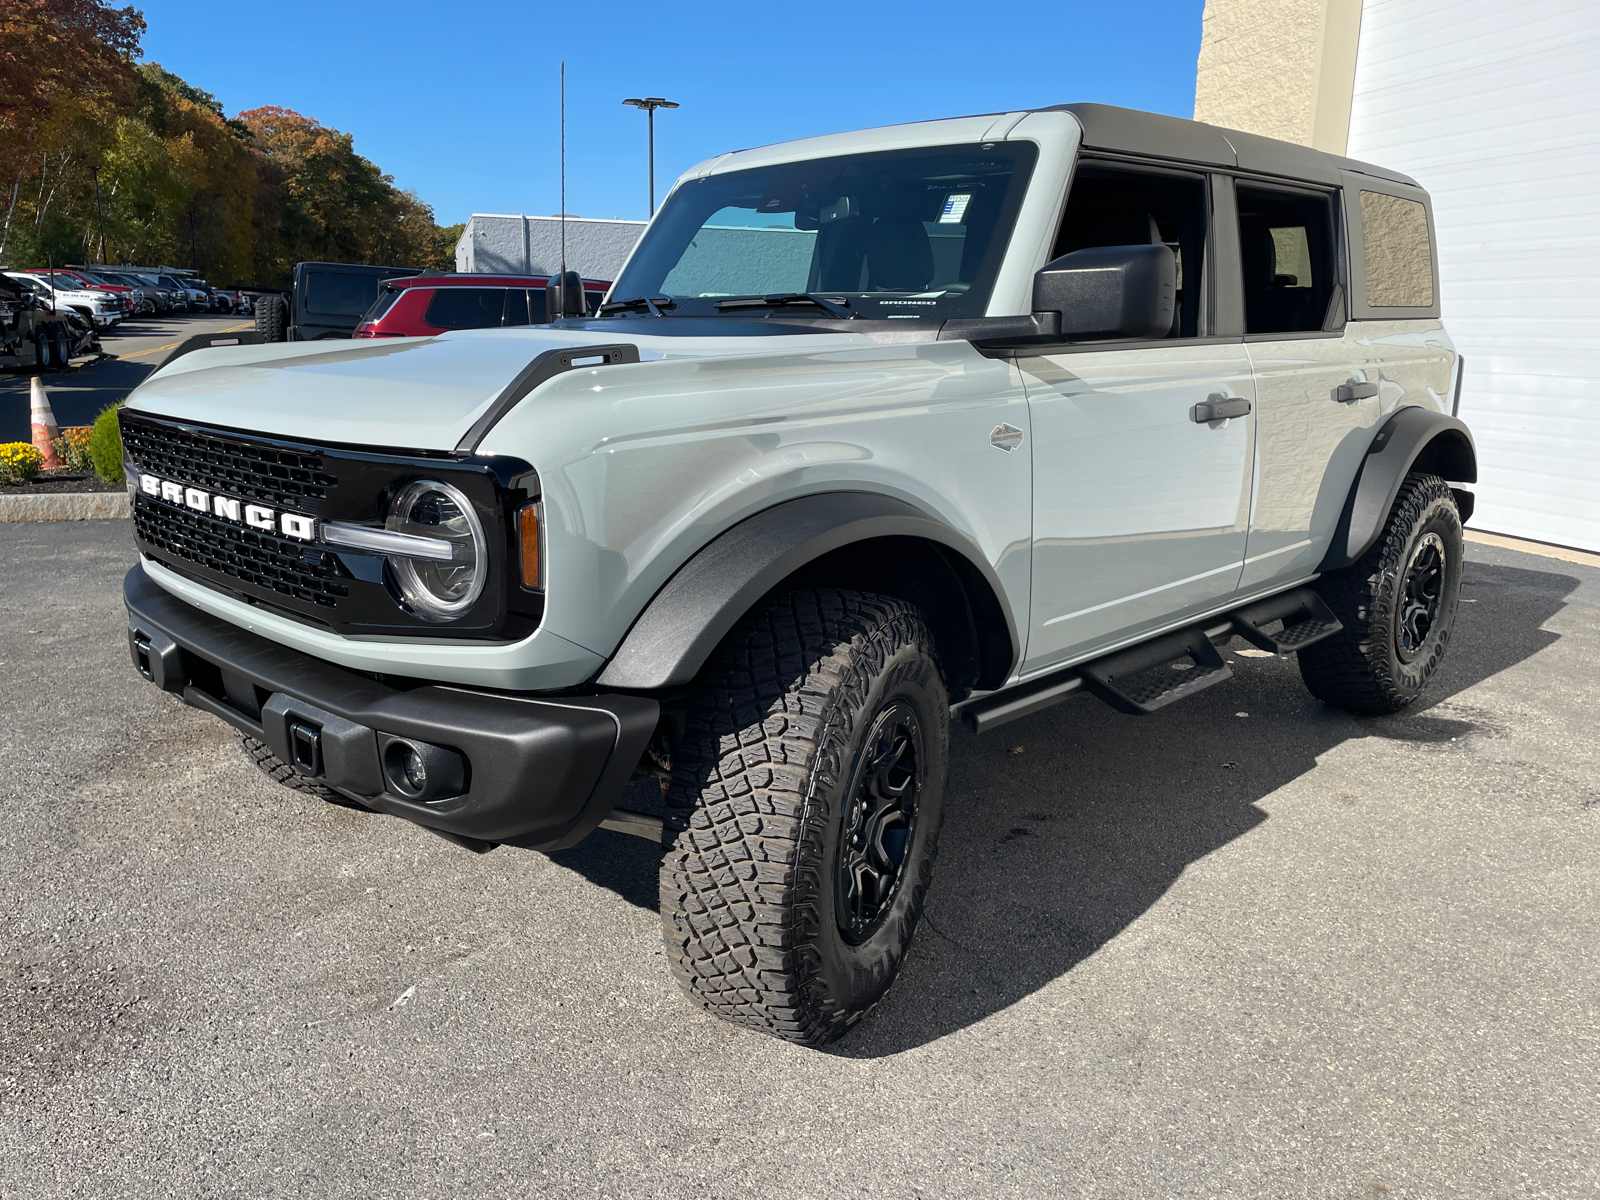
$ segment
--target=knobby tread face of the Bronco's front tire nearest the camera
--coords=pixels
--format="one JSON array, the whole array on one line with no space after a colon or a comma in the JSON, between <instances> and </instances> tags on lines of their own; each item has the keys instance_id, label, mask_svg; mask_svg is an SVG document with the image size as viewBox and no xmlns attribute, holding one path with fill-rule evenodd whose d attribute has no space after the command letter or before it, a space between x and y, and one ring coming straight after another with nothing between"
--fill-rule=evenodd
<instances>
[{"instance_id":1,"label":"knobby tread face of the Bronco's front tire nearest the camera","mask_svg":"<svg viewBox=\"0 0 1600 1200\"><path fill-rule=\"evenodd\" d=\"M910 605L816 587L763 602L714 654L675 749L661 864L667 962L709 1013L802 1045L866 1016L808 987L830 886L816 866L830 813L811 798L848 770L869 683L906 642L933 653Z\"/></svg>"}]
</instances>

